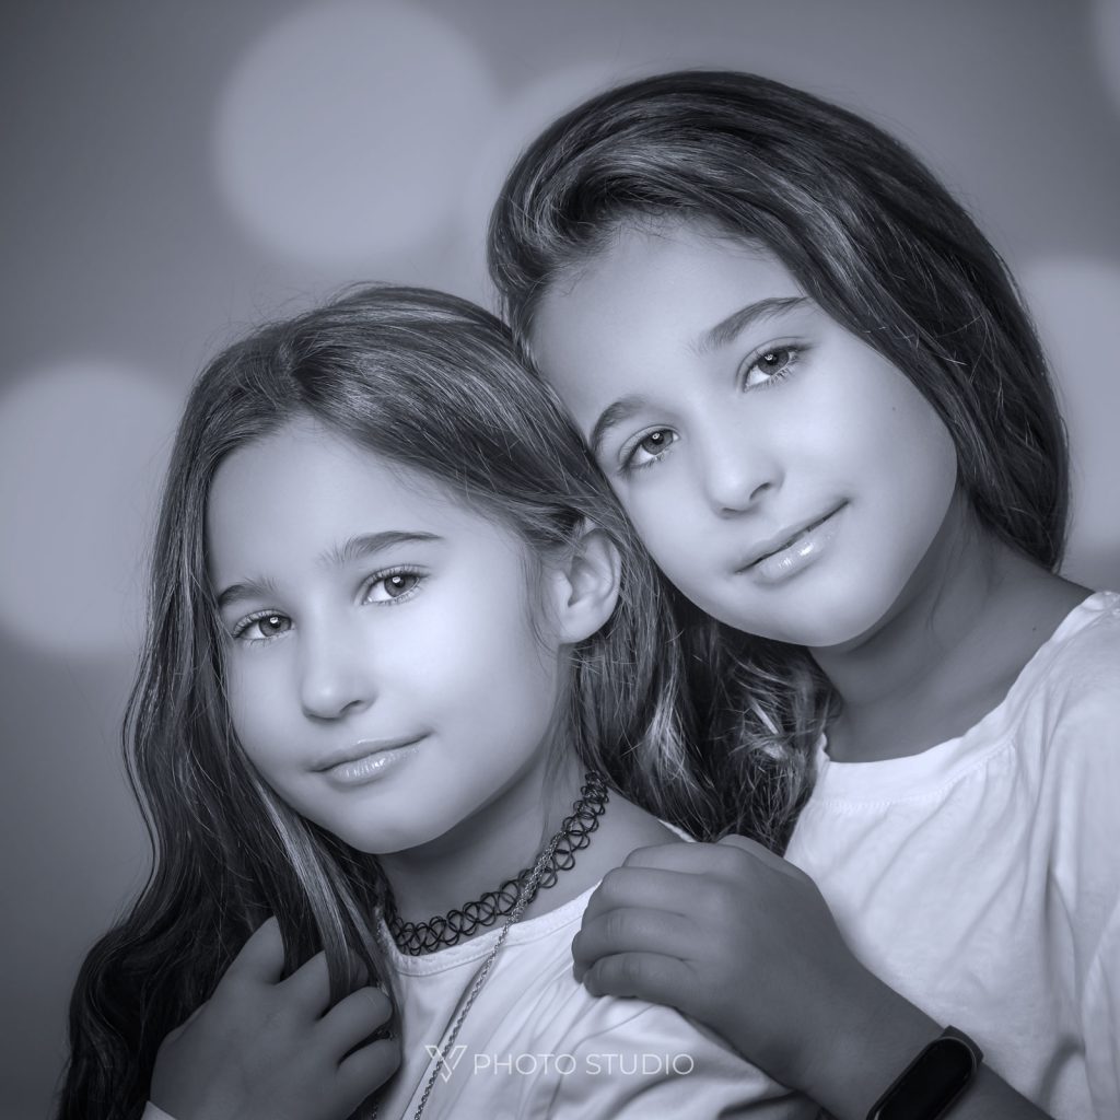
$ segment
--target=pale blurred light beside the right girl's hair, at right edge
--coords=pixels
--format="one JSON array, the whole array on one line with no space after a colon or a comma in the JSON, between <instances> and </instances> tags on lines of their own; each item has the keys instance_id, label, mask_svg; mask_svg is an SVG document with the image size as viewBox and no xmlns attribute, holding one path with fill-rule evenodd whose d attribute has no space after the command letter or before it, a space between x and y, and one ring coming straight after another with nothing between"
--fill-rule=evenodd
<instances>
[{"instance_id":1,"label":"pale blurred light beside the right girl's hair, at right edge","mask_svg":"<svg viewBox=\"0 0 1120 1120\"><path fill-rule=\"evenodd\" d=\"M1120 588L1120 265L1051 259L1020 283L1051 357L1070 432L1073 523L1065 570Z\"/></svg>"}]
</instances>

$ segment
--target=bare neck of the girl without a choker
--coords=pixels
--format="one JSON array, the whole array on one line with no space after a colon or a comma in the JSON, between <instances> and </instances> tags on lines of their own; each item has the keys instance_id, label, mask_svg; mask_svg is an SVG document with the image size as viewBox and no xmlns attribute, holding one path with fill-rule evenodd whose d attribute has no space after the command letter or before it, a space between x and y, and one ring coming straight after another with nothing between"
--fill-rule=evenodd
<instances>
[{"instance_id":1,"label":"bare neck of the girl without a choker","mask_svg":"<svg viewBox=\"0 0 1120 1120\"><path fill-rule=\"evenodd\" d=\"M997 541L959 495L890 612L810 651L842 700L830 755L903 757L964 734L1085 594Z\"/></svg>"}]
</instances>

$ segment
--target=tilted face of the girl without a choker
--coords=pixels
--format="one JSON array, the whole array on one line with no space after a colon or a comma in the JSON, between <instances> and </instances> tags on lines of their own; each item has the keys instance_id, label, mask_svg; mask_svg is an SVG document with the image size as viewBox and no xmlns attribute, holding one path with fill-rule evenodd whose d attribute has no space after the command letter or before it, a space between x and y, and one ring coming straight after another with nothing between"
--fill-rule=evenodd
<instances>
[{"instance_id":1,"label":"tilted face of the girl without a choker","mask_svg":"<svg viewBox=\"0 0 1120 1120\"><path fill-rule=\"evenodd\" d=\"M623 230L545 295L533 347L665 575L738 629L874 629L949 534L933 408L767 252Z\"/></svg>"}]
</instances>

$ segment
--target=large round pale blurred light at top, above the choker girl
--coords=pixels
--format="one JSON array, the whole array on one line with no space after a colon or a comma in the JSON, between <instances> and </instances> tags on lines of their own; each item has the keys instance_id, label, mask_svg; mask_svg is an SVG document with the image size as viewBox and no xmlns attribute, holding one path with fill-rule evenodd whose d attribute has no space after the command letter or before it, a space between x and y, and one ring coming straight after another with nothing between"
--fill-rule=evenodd
<instances>
[{"instance_id":1,"label":"large round pale blurred light at top, above the choker girl","mask_svg":"<svg viewBox=\"0 0 1120 1120\"><path fill-rule=\"evenodd\" d=\"M316 267L361 271L438 234L494 108L463 35L395 0L317 3L242 58L215 159L242 225Z\"/></svg>"}]
</instances>

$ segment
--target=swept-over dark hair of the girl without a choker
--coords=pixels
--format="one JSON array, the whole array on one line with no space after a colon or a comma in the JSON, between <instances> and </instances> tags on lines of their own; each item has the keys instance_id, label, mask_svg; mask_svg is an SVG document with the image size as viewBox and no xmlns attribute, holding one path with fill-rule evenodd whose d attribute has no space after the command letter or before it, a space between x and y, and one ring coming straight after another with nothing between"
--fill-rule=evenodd
<instances>
[{"instance_id":1,"label":"swept-over dark hair of the girl without a choker","mask_svg":"<svg viewBox=\"0 0 1120 1120\"><path fill-rule=\"evenodd\" d=\"M915 384L956 447L979 523L1046 568L1068 512L1065 432L1006 265L903 144L862 118L734 72L609 90L517 160L489 226L489 269L519 342L540 301L631 222L700 223L762 244L837 323ZM748 803L728 824L781 847L808 795L836 697L803 650L684 604L709 766Z\"/></svg>"}]
</instances>

